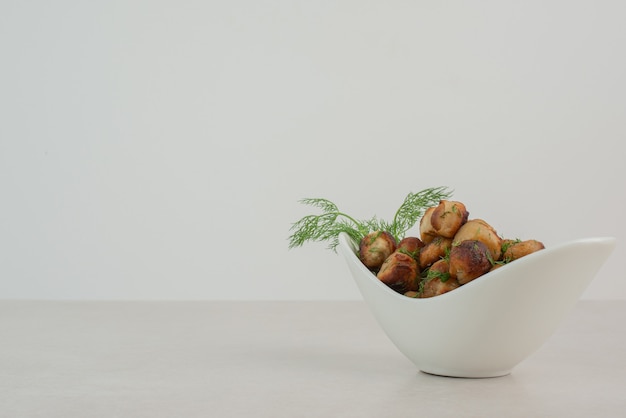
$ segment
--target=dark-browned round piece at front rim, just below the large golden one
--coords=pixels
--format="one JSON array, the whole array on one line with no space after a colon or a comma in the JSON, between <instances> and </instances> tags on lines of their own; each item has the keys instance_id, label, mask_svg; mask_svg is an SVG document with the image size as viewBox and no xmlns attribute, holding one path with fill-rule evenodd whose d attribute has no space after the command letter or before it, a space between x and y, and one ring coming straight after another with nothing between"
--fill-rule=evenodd
<instances>
[{"instance_id":1,"label":"dark-browned round piece at front rim, just below the large golden one","mask_svg":"<svg viewBox=\"0 0 626 418\"><path fill-rule=\"evenodd\" d=\"M450 250L450 276L464 285L491 269L487 246L478 240L465 240L452 245Z\"/></svg>"}]
</instances>

